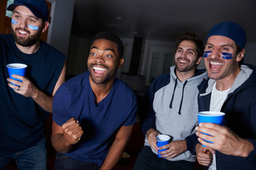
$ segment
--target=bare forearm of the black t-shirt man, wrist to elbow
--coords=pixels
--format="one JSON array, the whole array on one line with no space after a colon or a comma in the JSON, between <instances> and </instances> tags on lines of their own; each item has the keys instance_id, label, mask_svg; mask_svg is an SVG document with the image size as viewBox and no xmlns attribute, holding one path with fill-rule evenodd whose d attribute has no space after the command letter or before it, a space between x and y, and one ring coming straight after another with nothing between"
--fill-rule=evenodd
<instances>
[{"instance_id":1,"label":"bare forearm of the black t-shirt man, wrist to elbow","mask_svg":"<svg viewBox=\"0 0 256 170\"><path fill-rule=\"evenodd\" d=\"M53 113L53 96L47 96L43 91L36 89L36 93L32 98L39 106L41 106L41 108L43 108L44 111Z\"/></svg>"}]
</instances>

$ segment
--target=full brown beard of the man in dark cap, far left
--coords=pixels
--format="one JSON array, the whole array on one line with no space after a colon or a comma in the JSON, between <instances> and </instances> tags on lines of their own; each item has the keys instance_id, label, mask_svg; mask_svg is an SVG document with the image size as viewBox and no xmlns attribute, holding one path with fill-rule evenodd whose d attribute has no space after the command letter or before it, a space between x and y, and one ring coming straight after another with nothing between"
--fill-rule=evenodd
<instances>
[{"instance_id":1,"label":"full brown beard of the man in dark cap, far left","mask_svg":"<svg viewBox=\"0 0 256 170\"><path fill-rule=\"evenodd\" d=\"M16 28L14 31L14 28L11 27L11 33L14 36L14 40L18 45L21 45L23 47L29 47L31 45L36 44L36 41L39 40L40 35L41 35L41 30L42 28L40 28L39 30L37 30L36 34L31 35L28 38L23 38L23 37L18 37L18 35L16 34L16 31L18 30L23 30L26 31L27 33L31 33L29 30L26 29L22 29L22 28Z\"/></svg>"}]
</instances>

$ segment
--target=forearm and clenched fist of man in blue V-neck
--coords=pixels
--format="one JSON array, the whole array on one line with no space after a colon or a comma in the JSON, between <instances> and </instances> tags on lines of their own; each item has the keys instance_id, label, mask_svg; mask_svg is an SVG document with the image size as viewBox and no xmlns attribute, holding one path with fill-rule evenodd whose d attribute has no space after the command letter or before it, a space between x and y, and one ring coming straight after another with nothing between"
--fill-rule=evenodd
<instances>
[{"instance_id":1,"label":"forearm and clenched fist of man in blue V-neck","mask_svg":"<svg viewBox=\"0 0 256 170\"><path fill-rule=\"evenodd\" d=\"M75 118L71 118L62 126L53 121L51 142L57 152L67 153L79 142L82 134L82 128Z\"/></svg>"}]
</instances>

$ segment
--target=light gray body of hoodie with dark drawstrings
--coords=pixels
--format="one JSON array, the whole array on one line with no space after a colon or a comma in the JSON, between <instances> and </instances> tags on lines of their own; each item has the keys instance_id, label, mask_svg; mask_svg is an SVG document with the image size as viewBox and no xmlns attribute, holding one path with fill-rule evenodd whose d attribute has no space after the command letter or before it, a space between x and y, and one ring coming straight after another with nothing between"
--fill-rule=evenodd
<instances>
[{"instance_id":1,"label":"light gray body of hoodie with dark drawstrings","mask_svg":"<svg viewBox=\"0 0 256 170\"><path fill-rule=\"evenodd\" d=\"M203 79L207 79L207 72L205 69L198 70L193 77L181 82L176 77L175 66L173 66L170 74L158 77L151 86L157 82L163 82L161 79L169 79L168 84L160 85L154 94L148 94L154 96L152 104L155 113L155 128L161 134L171 136L173 141L184 140L188 135L196 132L195 127L198 125L196 114L198 112L197 86L201 84ZM146 122L143 124L148 127ZM150 146L146 139L144 145ZM154 149L152 152L157 154ZM196 156L186 151L173 159L169 159L169 161L179 160L195 162Z\"/></svg>"}]
</instances>

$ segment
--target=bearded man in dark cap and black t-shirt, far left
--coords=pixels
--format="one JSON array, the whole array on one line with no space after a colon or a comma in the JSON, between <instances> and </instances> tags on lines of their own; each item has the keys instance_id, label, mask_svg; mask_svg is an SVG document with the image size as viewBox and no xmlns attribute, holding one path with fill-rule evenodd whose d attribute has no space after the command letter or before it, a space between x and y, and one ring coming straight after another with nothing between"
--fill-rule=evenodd
<instances>
[{"instance_id":1,"label":"bearded man in dark cap and black t-shirt, far left","mask_svg":"<svg viewBox=\"0 0 256 170\"><path fill-rule=\"evenodd\" d=\"M46 169L45 120L65 81L65 56L39 40L49 26L45 0L15 0L7 9L13 13L12 34L0 35L0 169L10 159L18 169ZM26 64L26 77L9 75L10 63Z\"/></svg>"}]
</instances>

